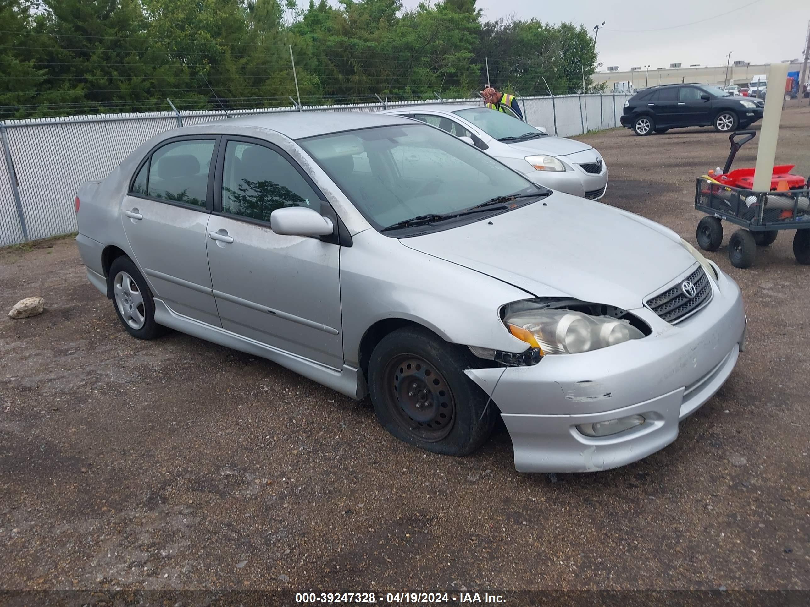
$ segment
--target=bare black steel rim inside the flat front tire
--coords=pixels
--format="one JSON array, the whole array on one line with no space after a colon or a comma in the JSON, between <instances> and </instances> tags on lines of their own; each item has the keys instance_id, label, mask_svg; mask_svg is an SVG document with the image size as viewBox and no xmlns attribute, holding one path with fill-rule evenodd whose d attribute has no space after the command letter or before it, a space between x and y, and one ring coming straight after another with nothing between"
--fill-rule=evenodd
<instances>
[{"instance_id":1,"label":"bare black steel rim inside the flat front tire","mask_svg":"<svg viewBox=\"0 0 810 607\"><path fill-rule=\"evenodd\" d=\"M386 405L403 430L436 443L453 430L455 400L444 376L418 354L391 359L384 373Z\"/></svg>"}]
</instances>

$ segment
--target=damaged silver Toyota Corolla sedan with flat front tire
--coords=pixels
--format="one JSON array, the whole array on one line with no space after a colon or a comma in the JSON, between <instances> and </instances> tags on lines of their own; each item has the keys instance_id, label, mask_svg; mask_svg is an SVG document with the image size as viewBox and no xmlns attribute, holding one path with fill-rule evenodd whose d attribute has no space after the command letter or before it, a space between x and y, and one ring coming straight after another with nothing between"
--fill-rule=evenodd
<instances>
[{"instance_id":1,"label":"damaged silver Toyota Corolla sedan with flat front tire","mask_svg":"<svg viewBox=\"0 0 810 607\"><path fill-rule=\"evenodd\" d=\"M744 345L740 290L674 232L404 117L175 129L77 198L87 277L131 335L369 394L432 452L472 452L501 415L518 470L636 461Z\"/></svg>"}]
</instances>

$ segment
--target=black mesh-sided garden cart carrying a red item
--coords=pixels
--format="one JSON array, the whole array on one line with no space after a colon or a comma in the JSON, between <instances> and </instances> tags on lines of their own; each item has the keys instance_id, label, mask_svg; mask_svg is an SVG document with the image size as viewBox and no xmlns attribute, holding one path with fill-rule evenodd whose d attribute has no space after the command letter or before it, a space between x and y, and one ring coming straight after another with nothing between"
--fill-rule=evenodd
<instances>
[{"instance_id":1,"label":"black mesh-sided garden cart carrying a red item","mask_svg":"<svg viewBox=\"0 0 810 607\"><path fill-rule=\"evenodd\" d=\"M708 214L697 224L697 244L704 251L716 251L723 244L725 220L743 229L728 241L728 257L737 268L748 268L757 257L757 246L768 246L778 231L795 230L793 254L801 264L810 264L810 189L808 181L794 175L794 165L774 167L769 192L752 189L753 168L729 171L740 147L756 131L731 134L731 153L726 166L697 179L695 208ZM740 138L738 141L737 138Z\"/></svg>"}]
</instances>

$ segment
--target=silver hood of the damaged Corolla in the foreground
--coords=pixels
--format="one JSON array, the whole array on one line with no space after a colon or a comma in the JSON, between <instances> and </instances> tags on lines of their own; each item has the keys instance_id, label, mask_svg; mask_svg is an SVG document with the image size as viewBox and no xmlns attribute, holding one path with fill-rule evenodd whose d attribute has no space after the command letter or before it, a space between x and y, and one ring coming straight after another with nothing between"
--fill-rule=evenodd
<instances>
[{"instance_id":1,"label":"silver hood of the damaged Corolla in the foreground","mask_svg":"<svg viewBox=\"0 0 810 607\"><path fill-rule=\"evenodd\" d=\"M537 297L569 296L625 310L641 307L646 295L696 263L668 228L564 193L400 242Z\"/></svg>"}]
</instances>

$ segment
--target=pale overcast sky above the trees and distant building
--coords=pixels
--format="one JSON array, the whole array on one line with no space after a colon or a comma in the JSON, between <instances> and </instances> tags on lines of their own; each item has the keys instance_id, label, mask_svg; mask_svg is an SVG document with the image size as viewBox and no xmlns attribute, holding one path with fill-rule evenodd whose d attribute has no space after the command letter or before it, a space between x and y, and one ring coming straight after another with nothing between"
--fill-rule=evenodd
<instances>
[{"instance_id":1,"label":"pale overcast sky above the trees and distant building","mask_svg":"<svg viewBox=\"0 0 810 607\"><path fill-rule=\"evenodd\" d=\"M418 4L403 2L407 8ZM476 6L487 21L513 13L520 19L582 23L589 30L604 21L597 39L599 70L678 62L724 66L729 51L732 62L794 59L802 56L810 19L810 0L477 0Z\"/></svg>"}]
</instances>

